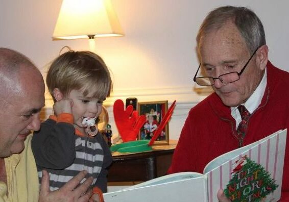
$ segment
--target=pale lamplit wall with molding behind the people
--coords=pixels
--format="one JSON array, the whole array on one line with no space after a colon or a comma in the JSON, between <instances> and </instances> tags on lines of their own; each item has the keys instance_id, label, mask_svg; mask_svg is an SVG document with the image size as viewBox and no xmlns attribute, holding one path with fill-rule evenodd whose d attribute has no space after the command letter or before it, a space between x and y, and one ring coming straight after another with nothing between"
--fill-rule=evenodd
<instances>
[{"instance_id":1,"label":"pale lamplit wall with molding behind the people","mask_svg":"<svg viewBox=\"0 0 289 202\"><path fill-rule=\"evenodd\" d=\"M114 92L105 105L113 123L113 101L137 97L139 102L177 99L170 122L170 137L177 139L188 110L209 93L192 82L197 67L195 37L213 8L223 5L248 6L263 22L273 64L289 71L287 53L289 26L286 0L196 1L196 0L112 0L125 37L99 38L100 54L113 73ZM85 39L52 41L61 0L0 0L0 46L31 58L45 76L49 62L68 45L89 49ZM47 95L46 110L52 102ZM116 131L113 124L113 131Z\"/></svg>"}]
</instances>

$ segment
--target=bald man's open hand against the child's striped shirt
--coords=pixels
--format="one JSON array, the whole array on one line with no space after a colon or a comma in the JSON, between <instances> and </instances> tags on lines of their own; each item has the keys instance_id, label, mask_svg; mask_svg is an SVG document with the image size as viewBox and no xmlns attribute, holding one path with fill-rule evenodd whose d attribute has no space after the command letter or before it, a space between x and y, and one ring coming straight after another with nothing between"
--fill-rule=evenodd
<instances>
[{"instance_id":1,"label":"bald man's open hand against the child's striped shirt","mask_svg":"<svg viewBox=\"0 0 289 202\"><path fill-rule=\"evenodd\" d=\"M88 188L92 184L92 181L93 181L92 177L88 178L84 183L78 186L79 183L82 181L82 179L85 178L86 174L87 174L87 171L83 170L79 172L73 179L69 180L60 189L55 190L55 191L50 191L49 174L46 170L42 170L39 202L89 201L89 198L91 196L91 190L88 190Z\"/></svg>"}]
</instances>

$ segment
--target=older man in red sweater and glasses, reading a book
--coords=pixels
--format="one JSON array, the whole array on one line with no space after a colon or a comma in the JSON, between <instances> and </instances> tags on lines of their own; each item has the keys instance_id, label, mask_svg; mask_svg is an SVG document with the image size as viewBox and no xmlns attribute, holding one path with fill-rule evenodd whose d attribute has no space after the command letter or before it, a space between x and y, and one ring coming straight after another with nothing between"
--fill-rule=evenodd
<instances>
[{"instance_id":1,"label":"older man in red sweater and glasses, reading a book","mask_svg":"<svg viewBox=\"0 0 289 202\"><path fill-rule=\"evenodd\" d=\"M289 73L268 61L263 26L253 11L232 6L211 11L197 50L198 71L206 75L197 71L194 81L215 92L190 110L168 173L202 172L215 157L289 128ZM241 113L247 116L243 121ZM218 198L229 201L223 190ZM289 201L288 148L281 199Z\"/></svg>"}]
</instances>

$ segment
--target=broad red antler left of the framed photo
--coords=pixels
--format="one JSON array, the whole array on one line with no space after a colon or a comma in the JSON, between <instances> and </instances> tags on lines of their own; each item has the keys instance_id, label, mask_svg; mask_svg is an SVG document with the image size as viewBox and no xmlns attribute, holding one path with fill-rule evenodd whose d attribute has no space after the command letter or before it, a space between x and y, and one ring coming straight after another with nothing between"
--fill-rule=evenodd
<instances>
[{"instance_id":1,"label":"broad red antler left of the framed photo","mask_svg":"<svg viewBox=\"0 0 289 202\"><path fill-rule=\"evenodd\" d=\"M114 121L124 142L136 140L140 128L146 122L146 116L139 116L129 105L126 110L123 100L117 99L113 105Z\"/></svg>"}]
</instances>

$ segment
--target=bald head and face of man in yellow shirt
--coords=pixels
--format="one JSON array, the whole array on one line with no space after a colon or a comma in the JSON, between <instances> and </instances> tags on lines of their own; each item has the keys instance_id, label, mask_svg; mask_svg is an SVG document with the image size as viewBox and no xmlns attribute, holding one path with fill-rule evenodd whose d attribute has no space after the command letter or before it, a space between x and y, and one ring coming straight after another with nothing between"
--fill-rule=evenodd
<instances>
[{"instance_id":1,"label":"bald head and face of man in yellow shirt","mask_svg":"<svg viewBox=\"0 0 289 202\"><path fill-rule=\"evenodd\" d=\"M0 157L20 153L31 130L39 130L44 82L24 55L0 48Z\"/></svg>"}]
</instances>

